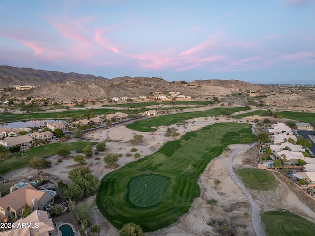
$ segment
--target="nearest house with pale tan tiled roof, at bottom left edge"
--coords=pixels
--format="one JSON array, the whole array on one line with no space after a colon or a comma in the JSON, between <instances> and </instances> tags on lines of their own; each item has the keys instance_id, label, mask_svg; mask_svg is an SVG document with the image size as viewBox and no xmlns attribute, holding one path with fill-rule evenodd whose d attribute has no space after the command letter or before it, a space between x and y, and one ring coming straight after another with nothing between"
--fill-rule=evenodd
<instances>
[{"instance_id":1,"label":"nearest house with pale tan tiled roof, at bottom left edge","mask_svg":"<svg viewBox=\"0 0 315 236\"><path fill-rule=\"evenodd\" d=\"M28 225L31 227L18 227ZM53 220L48 212L35 210L29 216L21 218L14 223L14 228L0 232L0 236L56 236Z\"/></svg>"}]
</instances>

